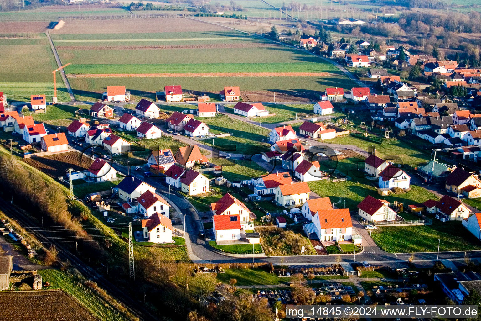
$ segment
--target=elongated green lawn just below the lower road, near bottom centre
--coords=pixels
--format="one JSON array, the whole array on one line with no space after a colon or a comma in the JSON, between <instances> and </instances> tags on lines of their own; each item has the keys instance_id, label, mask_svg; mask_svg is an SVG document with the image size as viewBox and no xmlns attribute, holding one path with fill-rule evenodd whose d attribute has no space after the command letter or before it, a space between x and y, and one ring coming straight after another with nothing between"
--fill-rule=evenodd
<instances>
[{"instance_id":1,"label":"elongated green lawn just below the lower road, near bottom centre","mask_svg":"<svg viewBox=\"0 0 481 321\"><path fill-rule=\"evenodd\" d=\"M217 279L226 284L236 279L236 285L277 285L289 281L289 278L279 278L262 269L226 269L225 273L217 273Z\"/></svg>"}]
</instances>

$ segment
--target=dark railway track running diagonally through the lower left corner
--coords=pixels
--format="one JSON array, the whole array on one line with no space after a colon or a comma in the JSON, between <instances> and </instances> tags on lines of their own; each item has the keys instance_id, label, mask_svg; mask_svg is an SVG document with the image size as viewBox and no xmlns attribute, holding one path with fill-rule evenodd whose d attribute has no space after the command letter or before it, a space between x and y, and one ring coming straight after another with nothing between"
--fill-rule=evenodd
<instances>
[{"instance_id":1,"label":"dark railway track running diagonally through the lower left corner","mask_svg":"<svg viewBox=\"0 0 481 321\"><path fill-rule=\"evenodd\" d=\"M4 210L9 215L13 216L17 220L17 222L25 228L38 228L34 224L30 223L30 219L23 214L21 211L17 210L13 205L9 202L5 201L3 198L0 198L0 208ZM87 264L82 262L78 257L73 255L70 251L66 250L61 244L58 242L52 241L50 237L45 235L40 231L29 231L32 235L34 235L38 242L42 243L45 247L49 247L50 245L55 245L55 247L59 251L59 255L64 259L67 259L70 264L75 267L78 271L80 271L87 279L97 282L97 284L107 291L110 295L112 295L116 300L122 302L126 308L138 317L140 320L143 321L150 321L150 320L157 320L158 318L149 311L145 309L141 309L139 302L134 301L130 296L125 295L125 293L115 286L112 282L105 279L101 274L99 274L96 270L89 267Z\"/></svg>"}]
</instances>

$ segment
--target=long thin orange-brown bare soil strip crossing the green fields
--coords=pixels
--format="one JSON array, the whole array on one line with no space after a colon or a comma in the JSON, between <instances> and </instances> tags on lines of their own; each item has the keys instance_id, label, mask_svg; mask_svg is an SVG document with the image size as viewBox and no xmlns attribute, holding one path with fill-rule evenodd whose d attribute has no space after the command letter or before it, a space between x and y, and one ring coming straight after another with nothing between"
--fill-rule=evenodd
<instances>
[{"instance_id":1,"label":"long thin orange-brown bare soil strip crossing the green fields","mask_svg":"<svg viewBox=\"0 0 481 321\"><path fill-rule=\"evenodd\" d=\"M165 73L165 74L68 74L69 78L154 78L154 77L335 77L336 74L320 72L320 73Z\"/></svg>"}]
</instances>

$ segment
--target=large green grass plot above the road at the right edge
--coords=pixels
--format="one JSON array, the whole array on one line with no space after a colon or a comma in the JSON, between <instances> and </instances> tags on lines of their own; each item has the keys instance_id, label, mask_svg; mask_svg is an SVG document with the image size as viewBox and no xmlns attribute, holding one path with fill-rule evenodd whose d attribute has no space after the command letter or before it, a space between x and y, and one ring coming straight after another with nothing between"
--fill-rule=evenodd
<instances>
[{"instance_id":1,"label":"large green grass plot above the road at the right edge","mask_svg":"<svg viewBox=\"0 0 481 321\"><path fill-rule=\"evenodd\" d=\"M480 250L481 243L461 225L461 221L441 222L433 219L432 225L388 226L372 230L373 240L386 252L436 252ZM413 239L415 236L415 239Z\"/></svg>"}]
</instances>

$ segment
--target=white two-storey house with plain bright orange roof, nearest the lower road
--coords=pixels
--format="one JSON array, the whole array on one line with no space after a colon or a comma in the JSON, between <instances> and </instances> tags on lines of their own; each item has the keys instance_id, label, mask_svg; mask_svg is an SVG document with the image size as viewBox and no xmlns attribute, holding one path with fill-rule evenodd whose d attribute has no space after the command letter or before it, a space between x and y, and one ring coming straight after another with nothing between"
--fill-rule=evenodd
<instances>
[{"instance_id":1,"label":"white two-storey house with plain bright orange roof, nearest the lower road","mask_svg":"<svg viewBox=\"0 0 481 321\"><path fill-rule=\"evenodd\" d=\"M320 241L344 241L352 239L353 222L348 208L318 210L312 222Z\"/></svg>"}]
</instances>

